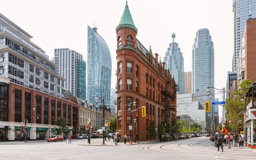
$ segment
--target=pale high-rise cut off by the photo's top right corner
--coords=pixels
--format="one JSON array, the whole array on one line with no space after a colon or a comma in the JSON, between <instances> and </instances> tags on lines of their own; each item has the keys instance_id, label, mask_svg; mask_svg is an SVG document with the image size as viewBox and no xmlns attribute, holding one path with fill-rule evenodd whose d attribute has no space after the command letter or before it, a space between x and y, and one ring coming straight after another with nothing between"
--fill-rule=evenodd
<instances>
[{"instance_id":1,"label":"pale high-rise cut off by the photo's top right corner","mask_svg":"<svg viewBox=\"0 0 256 160\"><path fill-rule=\"evenodd\" d=\"M233 0L234 12L234 57L233 72L237 70L239 50L241 40L244 35L244 27L246 20L256 18L256 1L255 0Z\"/></svg>"}]
</instances>

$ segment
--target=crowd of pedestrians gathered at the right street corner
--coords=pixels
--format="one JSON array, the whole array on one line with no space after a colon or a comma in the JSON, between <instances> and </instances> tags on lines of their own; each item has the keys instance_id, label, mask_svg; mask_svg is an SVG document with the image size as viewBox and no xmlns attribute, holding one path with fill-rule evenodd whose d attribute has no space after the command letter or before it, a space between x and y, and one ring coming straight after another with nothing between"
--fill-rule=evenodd
<instances>
[{"instance_id":1,"label":"crowd of pedestrians gathered at the right street corner","mask_svg":"<svg viewBox=\"0 0 256 160\"><path fill-rule=\"evenodd\" d=\"M217 135L215 135L215 147L218 147L218 151L220 151L220 148L223 152L223 143L227 146L228 148L231 147L231 144L234 144L234 147L237 147L237 144L239 144L239 148L244 146L244 135L243 134L230 134L230 132L228 132L228 134L225 134L225 136L223 134L221 134L218 138Z\"/></svg>"}]
</instances>

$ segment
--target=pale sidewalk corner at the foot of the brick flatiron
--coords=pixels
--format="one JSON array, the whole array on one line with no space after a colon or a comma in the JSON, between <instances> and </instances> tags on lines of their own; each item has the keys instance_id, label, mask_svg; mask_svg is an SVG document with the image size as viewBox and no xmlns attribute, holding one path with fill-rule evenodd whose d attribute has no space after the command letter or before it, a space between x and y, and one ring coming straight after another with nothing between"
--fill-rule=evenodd
<instances>
[{"instance_id":1,"label":"pale sidewalk corner at the foot of the brick flatiron","mask_svg":"<svg viewBox=\"0 0 256 160\"><path fill-rule=\"evenodd\" d=\"M92 141L90 142L90 144L86 141L86 143L79 143L77 145L80 146L116 146L115 143L113 142L112 139L110 139L110 141L105 141L105 144L103 144L103 140L102 138L100 138L100 141L98 141L98 139L91 139ZM95 142L96 140L96 142ZM156 141L150 141L150 140L145 140L145 141L138 141L136 143L132 142L132 144L130 144L130 142L126 142L126 144L124 144L124 142L118 142L117 146L130 146L130 145L136 145L136 144L146 144L146 143L150 143L150 142L156 142Z\"/></svg>"}]
</instances>

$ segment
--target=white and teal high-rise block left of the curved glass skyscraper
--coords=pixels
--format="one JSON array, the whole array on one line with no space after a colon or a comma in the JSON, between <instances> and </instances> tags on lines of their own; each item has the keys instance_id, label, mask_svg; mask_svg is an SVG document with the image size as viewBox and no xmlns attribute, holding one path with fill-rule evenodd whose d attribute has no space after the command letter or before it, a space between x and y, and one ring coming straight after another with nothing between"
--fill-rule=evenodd
<instances>
[{"instance_id":1,"label":"white and teal high-rise block left of the curved glass skyscraper","mask_svg":"<svg viewBox=\"0 0 256 160\"><path fill-rule=\"evenodd\" d=\"M54 49L54 63L58 66L56 72L62 75L66 82L64 87L72 96L86 99L86 62L82 54L69 48Z\"/></svg>"}]
</instances>

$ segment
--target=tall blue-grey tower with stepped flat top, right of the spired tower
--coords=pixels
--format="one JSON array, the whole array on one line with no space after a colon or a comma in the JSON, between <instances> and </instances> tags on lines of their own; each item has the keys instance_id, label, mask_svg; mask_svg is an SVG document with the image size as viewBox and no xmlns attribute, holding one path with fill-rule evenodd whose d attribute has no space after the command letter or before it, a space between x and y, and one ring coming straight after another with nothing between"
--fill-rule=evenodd
<instances>
[{"instance_id":1,"label":"tall blue-grey tower with stepped flat top, right of the spired tower","mask_svg":"<svg viewBox=\"0 0 256 160\"><path fill-rule=\"evenodd\" d=\"M201 104L208 100L214 101L214 88L209 88L212 94L210 97L206 95L208 87L214 87L214 46L207 28L196 32L192 48L192 93L196 93ZM210 116L214 130L213 105L210 107Z\"/></svg>"}]
</instances>

